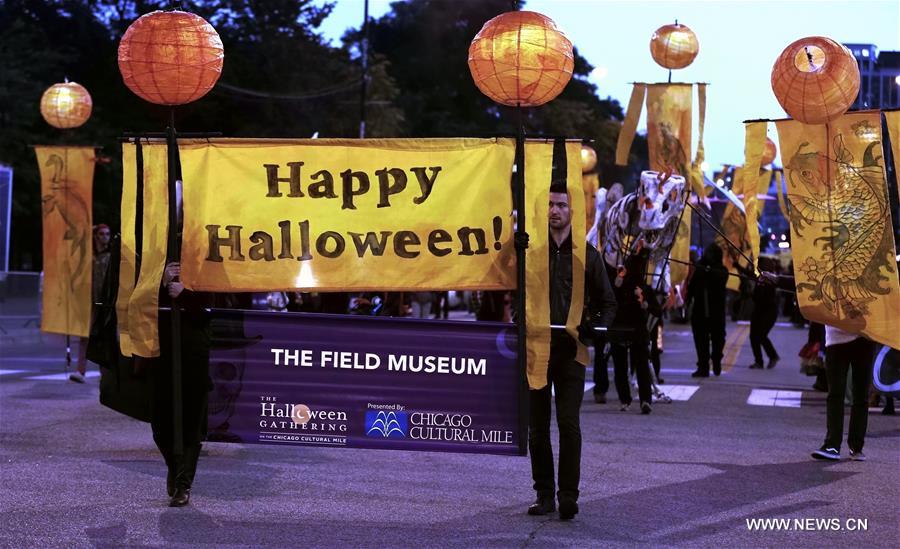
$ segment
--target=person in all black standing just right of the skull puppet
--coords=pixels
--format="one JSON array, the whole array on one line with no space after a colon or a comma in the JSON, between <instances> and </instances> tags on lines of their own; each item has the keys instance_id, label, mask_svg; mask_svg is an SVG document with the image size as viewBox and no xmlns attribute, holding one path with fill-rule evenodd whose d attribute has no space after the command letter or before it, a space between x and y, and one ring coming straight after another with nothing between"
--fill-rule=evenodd
<instances>
[{"instance_id":1,"label":"person in all black standing just right of the skull puppet","mask_svg":"<svg viewBox=\"0 0 900 549\"><path fill-rule=\"evenodd\" d=\"M713 373L722 373L725 349L725 285L728 271L722 264L722 248L710 244L703 250L691 280L688 282L688 303L691 310L691 331L697 350L697 370L691 377L709 377L709 360ZM712 344L712 353L710 353Z\"/></svg>"}]
</instances>

